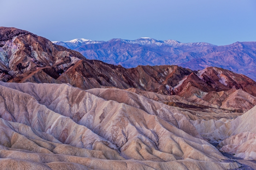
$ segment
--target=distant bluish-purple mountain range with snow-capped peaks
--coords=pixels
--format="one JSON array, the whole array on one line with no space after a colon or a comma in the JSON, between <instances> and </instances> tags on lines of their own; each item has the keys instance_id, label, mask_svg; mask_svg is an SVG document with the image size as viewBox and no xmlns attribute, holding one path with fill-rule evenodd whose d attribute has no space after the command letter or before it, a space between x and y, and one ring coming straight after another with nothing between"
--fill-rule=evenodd
<instances>
[{"instance_id":1,"label":"distant bluish-purple mountain range with snow-capped peaks","mask_svg":"<svg viewBox=\"0 0 256 170\"><path fill-rule=\"evenodd\" d=\"M97 59L125 68L138 65L178 65L191 70L221 67L256 80L256 42L236 42L226 46L209 43L180 43L176 40L111 39L92 41L75 39L53 43L80 52L87 59Z\"/></svg>"}]
</instances>

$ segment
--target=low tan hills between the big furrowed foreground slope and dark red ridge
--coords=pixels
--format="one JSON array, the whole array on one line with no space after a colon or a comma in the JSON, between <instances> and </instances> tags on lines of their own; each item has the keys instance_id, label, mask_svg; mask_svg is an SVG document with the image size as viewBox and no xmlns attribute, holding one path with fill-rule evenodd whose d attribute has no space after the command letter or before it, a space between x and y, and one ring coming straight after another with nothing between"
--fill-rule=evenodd
<instances>
[{"instance_id":1,"label":"low tan hills between the big furrowed foreground slope and dark red ridge","mask_svg":"<svg viewBox=\"0 0 256 170\"><path fill-rule=\"evenodd\" d=\"M159 107L164 108L164 110L162 109L161 111L169 112L173 109L173 107L170 106L175 106L176 110L179 110L181 114L185 115L190 120L218 120L221 118L232 119L241 115L241 113L234 113L214 107L193 104L176 95L166 96L156 94L154 92L140 91L138 89L130 88L127 90L120 90L110 88L94 88L87 91L103 99L115 100L119 103L129 104L148 113L152 112L153 114L158 114L155 110L157 110ZM135 92L137 94L135 94ZM166 102L166 100L169 102ZM161 114L158 115L162 116Z\"/></svg>"}]
</instances>

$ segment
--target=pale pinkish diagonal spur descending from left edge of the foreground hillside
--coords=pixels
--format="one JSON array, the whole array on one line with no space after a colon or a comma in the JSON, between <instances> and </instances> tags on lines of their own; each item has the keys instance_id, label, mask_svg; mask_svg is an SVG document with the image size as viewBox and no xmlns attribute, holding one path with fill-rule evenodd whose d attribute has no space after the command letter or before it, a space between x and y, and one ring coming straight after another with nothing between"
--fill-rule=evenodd
<instances>
[{"instance_id":1,"label":"pale pinkish diagonal spur descending from left edge of the foreground hillside","mask_svg":"<svg viewBox=\"0 0 256 170\"><path fill-rule=\"evenodd\" d=\"M49 110L28 94L4 86L0 86L0 94L0 103L3 106L0 112L2 119L26 124L34 130L52 135L53 139L61 143L72 146L92 149L93 145L101 142L102 145L117 150L115 145L99 137L87 127ZM10 142L9 140L7 146Z\"/></svg>"}]
</instances>

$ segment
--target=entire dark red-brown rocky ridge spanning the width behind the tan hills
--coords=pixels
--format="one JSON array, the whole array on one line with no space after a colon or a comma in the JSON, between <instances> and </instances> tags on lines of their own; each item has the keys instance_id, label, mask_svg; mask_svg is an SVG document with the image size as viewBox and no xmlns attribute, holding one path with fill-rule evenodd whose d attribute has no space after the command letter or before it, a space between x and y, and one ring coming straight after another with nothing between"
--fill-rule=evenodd
<instances>
[{"instance_id":1,"label":"entire dark red-brown rocky ridge spanning the width behind the tan hills","mask_svg":"<svg viewBox=\"0 0 256 170\"><path fill-rule=\"evenodd\" d=\"M4 82L69 83L84 90L102 86L138 88L164 95L196 97L199 103L195 104L202 104L208 92L232 88L256 96L256 82L222 68L209 67L199 72L168 65L127 69L85 59L78 52L16 28L1 27L0 40L0 79Z\"/></svg>"}]
</instances>

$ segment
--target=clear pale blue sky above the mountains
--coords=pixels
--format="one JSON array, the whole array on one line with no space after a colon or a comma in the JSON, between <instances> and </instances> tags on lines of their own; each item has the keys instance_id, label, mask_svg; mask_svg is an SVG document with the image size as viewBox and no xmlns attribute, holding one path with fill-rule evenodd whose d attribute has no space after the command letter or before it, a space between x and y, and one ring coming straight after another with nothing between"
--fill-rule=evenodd
<instances>
[{"instance_id":1,"label":"clear pale blue sky above the mountains","mask_svg":"<svg viewBox=\"0 0 256 170\"><path fill-rule=\"evenodd\" d=\"M256 41L256 0L0 0L0 26L52 41Z\"/></svg>"}]
</instances>

